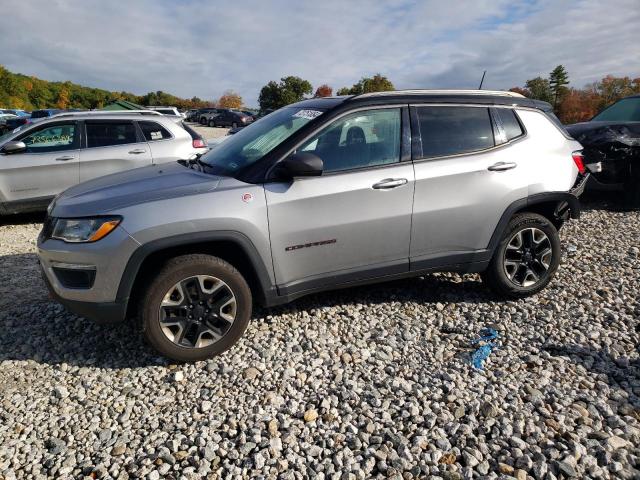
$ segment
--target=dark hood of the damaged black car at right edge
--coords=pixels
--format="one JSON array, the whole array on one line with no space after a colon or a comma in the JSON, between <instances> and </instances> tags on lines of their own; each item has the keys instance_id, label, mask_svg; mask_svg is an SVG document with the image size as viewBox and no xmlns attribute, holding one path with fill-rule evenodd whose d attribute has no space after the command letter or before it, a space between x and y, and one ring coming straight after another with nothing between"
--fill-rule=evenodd
<instances>
[{"instance_id":1,"label":"dark hood of the damaged black car at right edge","mask_svg":"<svg viewBox=\"0 0 640 480\"><path fill-rule=\"evenodd\" d=\"M611 144L640 147L640 122L582 122L566 128L585 147Z\"/></svg>"}]
</instances>

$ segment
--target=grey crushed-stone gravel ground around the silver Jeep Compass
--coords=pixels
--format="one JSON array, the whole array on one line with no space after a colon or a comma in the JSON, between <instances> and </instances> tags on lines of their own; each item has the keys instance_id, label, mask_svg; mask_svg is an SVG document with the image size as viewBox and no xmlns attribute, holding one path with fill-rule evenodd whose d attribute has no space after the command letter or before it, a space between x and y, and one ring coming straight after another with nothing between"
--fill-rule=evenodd
<instances>
[{"instance_id":1,"label":"grey crushed-stone gravel ground around the silver Jeep Compass","mask_svg":"<svg viewBox=\"0 0 640 480\"><path fill-rule=\"evenodd\" d=\"M590 204L527 300L454 274L314 295L193 365L47 300L38 220L0 226L0 477L640 478L640 212Z\"/></svg>"}]
</instances>

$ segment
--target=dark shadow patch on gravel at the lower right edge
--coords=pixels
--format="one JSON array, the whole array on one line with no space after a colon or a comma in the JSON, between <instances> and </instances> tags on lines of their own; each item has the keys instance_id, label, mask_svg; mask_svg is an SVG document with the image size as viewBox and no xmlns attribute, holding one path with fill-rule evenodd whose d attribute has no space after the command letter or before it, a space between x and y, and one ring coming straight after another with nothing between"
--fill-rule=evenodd
<instances>
[{"instance_id":1,"label":"dark shadow patch on gravel at the lower right edge","mask_svg":"<svg viewBox=\"0 0 640 480\"><path fill-rule=\"evenodd\" d=\"M544 350L553 356L568 357L572 362L582 365L586 370L606 378L611 388L623 392L624 399L618 405L621 413L630 414L640 420L640 396L634 392L634 385L640 380L640 359L614 356L604 349L595 349L583 345L546 345ZM640 351L640 345L636 346ZM628 411L631 407L631 411ZM625 413L625 409L627 409Z\"/></svg>"}]
</instances>

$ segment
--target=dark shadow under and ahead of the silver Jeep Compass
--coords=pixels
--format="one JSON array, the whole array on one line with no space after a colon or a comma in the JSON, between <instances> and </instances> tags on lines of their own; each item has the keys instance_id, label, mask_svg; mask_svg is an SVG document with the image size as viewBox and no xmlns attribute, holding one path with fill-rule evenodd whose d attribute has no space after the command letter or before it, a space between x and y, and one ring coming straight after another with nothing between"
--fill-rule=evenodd
<instances>
[{"instance_id":1,"label":"dark shadow under and ahead of the silver Jeep Compass","mask_svg":"<svg viewBox=\"0 0 640 480\"><path fill-rule=\"evenodd\" d=\"M435 310L438 303L492 301L491 294L474 277L437 274L319 293L280 307L256 307L253 319L354 303L415 302L433 304ZM97 325L50 299L33 253L0 256L0 280L0 293L7 299L0 308L0 362L34 360L105 369L170 363L144 342L135 322ZM16 289L28 293L16 301Z\"/></svg>"}]
</instances>

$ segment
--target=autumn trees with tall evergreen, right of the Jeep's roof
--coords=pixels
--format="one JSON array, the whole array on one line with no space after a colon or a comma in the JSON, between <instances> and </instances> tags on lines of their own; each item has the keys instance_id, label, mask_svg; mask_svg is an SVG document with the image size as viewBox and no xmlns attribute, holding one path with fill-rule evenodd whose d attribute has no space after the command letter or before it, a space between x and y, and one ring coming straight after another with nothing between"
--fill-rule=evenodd
<instances>
[{"instance_id":1,"label":"autumn trees with tall evergreen, right of the Jeep's roof","mask_svg":"<svg viewBox=\"0 0 640 480\"><path fill-rule=\"evenodd\" d=\"M524 87L513 87L511 91L549 102L565 124L587 121L621 98L640 94L640 77L607 75L583 88L569 85L569 73L564 66L558 65L548 77L532 78Z\"/></svg>"}]
</instances>

